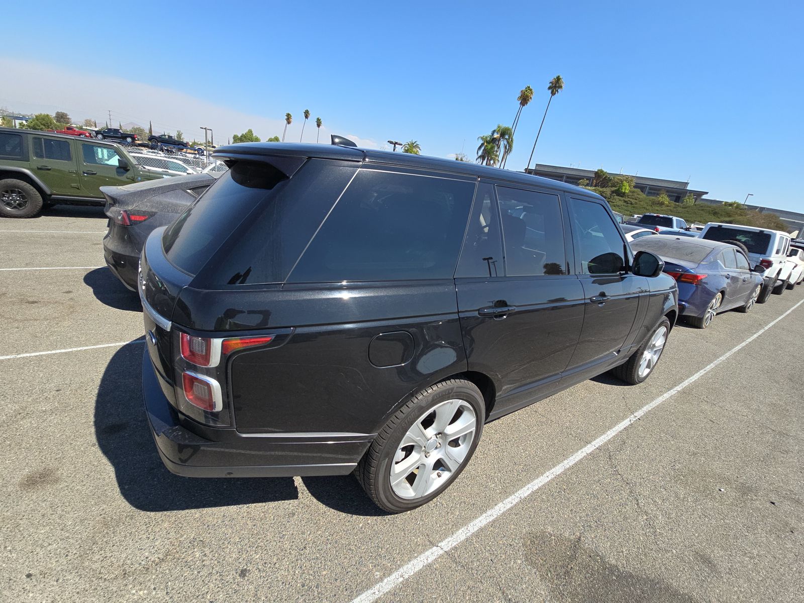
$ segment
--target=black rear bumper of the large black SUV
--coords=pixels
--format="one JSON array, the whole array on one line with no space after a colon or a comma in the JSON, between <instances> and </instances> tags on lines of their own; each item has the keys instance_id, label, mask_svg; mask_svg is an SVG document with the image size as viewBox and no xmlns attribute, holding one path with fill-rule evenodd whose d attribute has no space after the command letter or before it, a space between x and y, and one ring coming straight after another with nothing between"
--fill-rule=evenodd
<instances>
[{"instance_id":1,"label":"black rear bumper of the large black SUV","mask_svg":"<svg viewBox=\"0 0 804 603\"><path fill-rule=\"evenodd\" d=\"M351 473L371 444L363 434L243 436L235 429L187 429L170 405L150 355L142 358L142 397L159 456L171 473L188 478L279 478ZM359 437L362 436L362 437Z\"/></svg>"}]
</instances>

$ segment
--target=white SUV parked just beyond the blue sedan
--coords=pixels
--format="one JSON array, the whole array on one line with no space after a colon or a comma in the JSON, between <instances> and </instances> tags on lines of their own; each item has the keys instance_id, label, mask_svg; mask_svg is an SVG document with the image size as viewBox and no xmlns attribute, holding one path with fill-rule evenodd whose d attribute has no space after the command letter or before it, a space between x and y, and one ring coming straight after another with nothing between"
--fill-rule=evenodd
<instances>
[{"instance_id":1,"label":"white SUV parked just beyond the blue sedan","mask_svg":"<svg viewBox=\"0 0 804 603\"><path fill-rule=\"evenodd\" d=\"M791 277L796 276L792 274L795 265L787 258L790 253L790 235L786 232L710 222L701 231L700 238L737 241L745 245L753 265L765 269L765 281L757 303L764 304L770 293L781 295L788 285L795 285L795 281L791 281Z\"/></svg>"}]
</instances>

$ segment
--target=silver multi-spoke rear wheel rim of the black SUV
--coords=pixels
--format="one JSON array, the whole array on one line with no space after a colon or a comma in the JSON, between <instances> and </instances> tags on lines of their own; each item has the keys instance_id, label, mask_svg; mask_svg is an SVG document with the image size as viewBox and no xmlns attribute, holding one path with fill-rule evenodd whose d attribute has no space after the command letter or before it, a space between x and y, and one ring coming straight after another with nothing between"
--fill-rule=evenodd
<instances>
[{"instance_id":1,"label":"silver multi-spoke rear wheel rim of the black SUV","mask_svg":"<svg viewBox=\"0 0 804 603\"><path fill-rule=\"evenodd\" d=\"M446 400L430 408L404 434L389 478L400 498L422 498L444 486L463 464L478 429L466 400Z\"/></svg>"}]
</instances>

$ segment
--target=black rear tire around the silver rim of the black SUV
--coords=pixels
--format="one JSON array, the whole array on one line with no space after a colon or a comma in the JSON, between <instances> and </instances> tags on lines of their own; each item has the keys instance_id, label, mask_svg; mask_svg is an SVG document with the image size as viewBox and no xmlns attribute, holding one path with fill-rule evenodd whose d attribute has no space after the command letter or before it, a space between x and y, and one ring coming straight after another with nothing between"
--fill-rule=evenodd
<instances>
[{"instance_id":1,"label":"black rear tire around the silver rim of the black SUV","mask_svg":"<svg viewBox=\"0 0 804 603\"><path fill-rule=\"evenodd\" d=\"M470 404L472 410L474 410L474 439L470 442L468 452L466 452L466 455L463 457L463 460L457 466L456 470L446 471L443 468L436 470L437 464L441 461L433 461L433 466L430 470L431 475L433 475L433 472L436 472L437 478L441 478L441 472L445 471L449 473L449 477L445 478L444 482L438 485L435 490L431 491L429 494L418 498L402 498L394 491L391 485L391 470L393 464L396 462L404 462L407 458L400 459L400 461L395 460L397 453L404 450L404 448L400 448L400 444L408 433L408 429L411 429L419 420L421 420L421 423L425 423L425 420L429 416L428 412L448 400L461 400L461 402ZM461 414L456 414L453 420L458 420L463 412L464 411L461 410ZM482 393L473 383L464 379L449 379L442 381L440 384L435 384L425 389L423 392L416 394L416 396L413 396L407 404L404 404L402 408L394 413L383 429L379 430L377 437L375 437L375 440L371 443L371 446L369 446L363 458L360 459L358 466L355 468L355 478L357 478L360 486L363 486L363 490L366 490L371 500L374 501L379 508L388 511L388 513L402 513L429 503L433 498L436 498L446 490L469 464L482 435L485 420L486 404L483 400ZM437 437L441 438L441 434L431 436L428 442L436 441ZM443 449L446 450L446 447L449 445L451 445L451 442L444 441ZM411 445L410 448L410 455L416 453L413 445ZM438 443L438 448L441 448L441 442ZM422 449L421 452L424 452L424 449ZM427 456L429 457L429 453L427 453ZM412 466L410 467L408 477L413 475ZM420 471L420 467L420 465L416 465L416 472ZM416 478L414 478L414 484L417 478L418 473L416 473ZM413 486L413 484L410 484L410 486Z\"/></svg>"}]
</instances>

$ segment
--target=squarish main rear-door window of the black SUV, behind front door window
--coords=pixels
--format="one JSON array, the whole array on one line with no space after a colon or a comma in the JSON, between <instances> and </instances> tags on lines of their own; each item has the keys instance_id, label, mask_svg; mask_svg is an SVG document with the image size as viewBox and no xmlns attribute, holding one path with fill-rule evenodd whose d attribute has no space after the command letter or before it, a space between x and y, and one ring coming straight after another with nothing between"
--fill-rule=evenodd
<instances>
[{"instance_id":1,"label":"squarish main rear-door window of the black SUV, behind front door window","mask_svg":"<svg viewBox=\"0 0 804 603\"><path fill-rule=\"evenodd\" d=\"M507 276L566 274L558 195L497 187L497 196Z\"/></svg>"}]
</instances>

